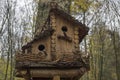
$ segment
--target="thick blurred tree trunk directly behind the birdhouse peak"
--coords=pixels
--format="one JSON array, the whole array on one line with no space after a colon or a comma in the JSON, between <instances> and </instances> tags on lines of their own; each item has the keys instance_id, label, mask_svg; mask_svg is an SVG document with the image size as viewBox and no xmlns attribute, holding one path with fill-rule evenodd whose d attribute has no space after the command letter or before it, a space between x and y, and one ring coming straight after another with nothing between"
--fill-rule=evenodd
<instances>
[{"instance_id":1,"label":"thick blurred tree trunk directly behind the birdhouse peak","mask_svg":"<svg viewBox=\"0 0 120 80\"><path fill-rule=\"evenodd\" d=\"M53 0L39 0L38 7L37 7L37 17L36 17L36 25L35 25L35 34L37 30L41 31L42 26L44 25L48 13L49 13L49 3ZM56 3L64 8L68 13L70 13L70 6L72 0L56 0Z\"/></svg>"}]
</instances>

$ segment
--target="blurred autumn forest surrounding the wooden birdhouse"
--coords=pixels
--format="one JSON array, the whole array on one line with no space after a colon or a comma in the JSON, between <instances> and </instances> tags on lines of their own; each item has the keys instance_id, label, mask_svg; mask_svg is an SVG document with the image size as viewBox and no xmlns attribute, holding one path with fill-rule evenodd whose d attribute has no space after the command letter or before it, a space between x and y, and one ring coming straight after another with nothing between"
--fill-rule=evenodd
<instances>
[{"instance_id":1,"label":"blurred autumn forest surrounding the wooden birdhouse","mask_svg":"<svg viewBox=\"0 0 120 80\"><path fill-rule=\"evenodd\" d=\"M0 0L0 80L23 80L14 77L14 55L44 24L50 1ZM80 80L120 80L120 1L54 1L90 28L80 49L91 69Z\"/></svg>"}]
</instances>

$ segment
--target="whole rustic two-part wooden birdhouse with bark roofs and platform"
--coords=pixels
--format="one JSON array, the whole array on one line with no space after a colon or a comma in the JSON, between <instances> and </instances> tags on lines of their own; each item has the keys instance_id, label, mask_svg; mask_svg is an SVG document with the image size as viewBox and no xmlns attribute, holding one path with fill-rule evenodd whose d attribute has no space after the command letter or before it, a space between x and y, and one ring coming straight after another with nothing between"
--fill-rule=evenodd
<instances>
[{"instance_id":1,"label":"whole rustic two-part wooden birdhouse with bark roofs and platform","mask_svg":"<svg viewBox=\"0 0 120 80\"><path fill-rule=\"evenodd\" d=\"M89 70L79 44L89 28L51 2L49 16L35 38L16 54L16 77L26 80L78 80ZM57 79L58 80L58 79Z\"/></svg>"}]
</instances>

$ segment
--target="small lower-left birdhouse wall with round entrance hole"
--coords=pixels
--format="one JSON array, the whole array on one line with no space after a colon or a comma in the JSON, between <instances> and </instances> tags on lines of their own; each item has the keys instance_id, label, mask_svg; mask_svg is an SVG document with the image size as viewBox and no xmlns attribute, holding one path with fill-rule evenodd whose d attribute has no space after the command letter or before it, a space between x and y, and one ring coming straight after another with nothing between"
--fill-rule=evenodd
<instances>
[{"instance_id":1,"label":"small lower-left birdhouse wall with round entrance hole","mask_svg":"<svg viewBox=\"0 0 120 80\"><path fill-rule=\"evenodd\" d=\"M50 60L50 37L35 41L32 44L32 53L46 56L45 59Z\"/></svg>"}]
</instances>

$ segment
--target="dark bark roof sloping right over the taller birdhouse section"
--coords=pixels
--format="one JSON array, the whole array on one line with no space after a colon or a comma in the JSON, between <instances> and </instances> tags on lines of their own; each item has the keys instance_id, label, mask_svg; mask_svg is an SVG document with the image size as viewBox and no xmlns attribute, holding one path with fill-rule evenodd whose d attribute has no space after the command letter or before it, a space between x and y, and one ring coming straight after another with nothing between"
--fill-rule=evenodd
<instances>
[{"instance_id":1,"label":"dark bark roof sloping right over the taller birdhouse section","mask_svg":"<svg viewBox=\"0 0 120 80\"><path fill-rule=\"evenodd\" d=\"M68 20L72 25L74 25L74 27L79 27L79 43L88 34L89 28L86 27L85 24L82 24L77 19L72 17L69 13L65 12L65 10L58 6L56 2L51 2L50 12L53 12L59 15L60 17L64 18L65 20Z\"/></svg>"}]
</instances>

